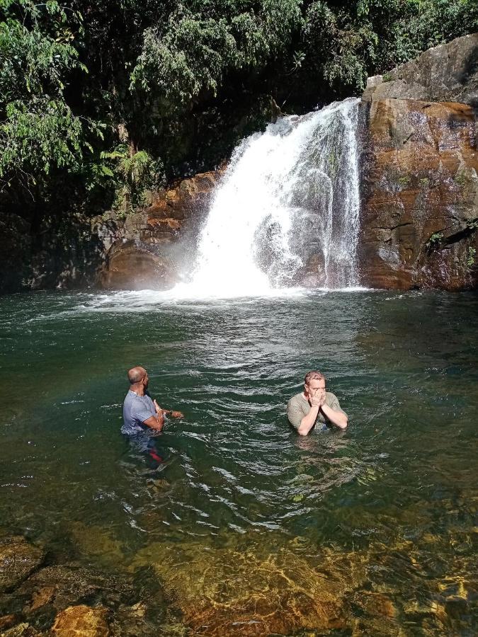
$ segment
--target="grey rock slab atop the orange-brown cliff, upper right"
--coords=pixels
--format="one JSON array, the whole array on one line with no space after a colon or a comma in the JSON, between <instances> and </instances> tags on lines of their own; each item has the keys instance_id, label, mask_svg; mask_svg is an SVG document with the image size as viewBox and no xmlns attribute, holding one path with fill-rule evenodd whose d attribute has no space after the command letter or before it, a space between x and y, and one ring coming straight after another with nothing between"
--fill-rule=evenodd
<instances>
[{"instance_id":1,"label":"grey rock slab atop the orange-brown cliff, upper right","mask_svg":"<svg viewBox=\"0 0 478 637\"><path fill-rule=\"evenodd\" d=\"M370 77L363 99L460 102L478 108L478 33L423 52L384 75Z\"/></svg>"}]
</instances>

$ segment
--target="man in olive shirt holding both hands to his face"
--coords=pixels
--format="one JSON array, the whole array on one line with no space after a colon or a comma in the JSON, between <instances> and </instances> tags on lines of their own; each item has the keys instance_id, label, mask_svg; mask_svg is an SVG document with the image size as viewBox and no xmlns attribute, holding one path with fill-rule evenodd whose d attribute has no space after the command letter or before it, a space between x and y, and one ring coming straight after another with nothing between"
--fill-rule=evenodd
<instances>
[{"instance_id":1,"label":"man in olive shirt holding both hands to his face","mask_svg":"<svg viewBox=\"0 0 478 637\"><path fill-rule=\"evenodd\" d=\"M337 397L325 391L325 377L321 372L306 374L304 391L287 403L287 417L301 436L307 436L317 423L319 430L325 423L331 423L338 429L345 429L348 423L347 414L341 409Z\"/></svg>"}]
</instances>

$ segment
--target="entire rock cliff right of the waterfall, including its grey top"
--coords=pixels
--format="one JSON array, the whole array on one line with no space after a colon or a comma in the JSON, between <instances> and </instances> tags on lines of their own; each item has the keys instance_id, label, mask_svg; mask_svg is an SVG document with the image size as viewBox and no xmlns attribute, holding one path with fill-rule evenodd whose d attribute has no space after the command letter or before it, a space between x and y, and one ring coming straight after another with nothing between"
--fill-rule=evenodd
<instances>
[{"instance_id":1,"label":"entire rock cliff right of the waterfall, including its grey top","mask_svg":"<svg viewBox=\"0 0 478 637\"><path fill-rule=\"evenodd\" d=\"M360 268L371 287L478 282L478 33L368 80Z\"/></svg>"}]
</instances>

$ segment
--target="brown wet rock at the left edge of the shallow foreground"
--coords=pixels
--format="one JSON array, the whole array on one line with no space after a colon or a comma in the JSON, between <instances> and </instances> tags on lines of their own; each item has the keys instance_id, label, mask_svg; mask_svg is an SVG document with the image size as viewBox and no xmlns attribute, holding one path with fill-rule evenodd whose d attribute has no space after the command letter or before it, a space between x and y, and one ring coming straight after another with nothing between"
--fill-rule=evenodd
<instances>
[{"instance_id":1,"label":"brown wet rock at the left edge of the shallow foreground","mask_svg":"<svg viewBox=\"0 0 478 637\"><path fill-rule=\"evenodd\" d=\"M23 582L43 560L43 552L21 536L0 538L0 592Z\"/></svg>"}]
</instances>

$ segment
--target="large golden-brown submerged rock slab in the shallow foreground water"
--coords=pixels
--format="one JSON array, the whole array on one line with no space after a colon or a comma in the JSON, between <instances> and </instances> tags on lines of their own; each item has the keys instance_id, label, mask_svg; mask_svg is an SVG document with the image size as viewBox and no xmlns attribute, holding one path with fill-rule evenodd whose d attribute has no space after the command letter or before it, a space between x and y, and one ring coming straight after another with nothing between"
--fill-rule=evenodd
<instances>
[{"instance_id":1,"label":"large golden-brown submerged rock slab in the shallow foreground water","mask_svg":"<svg viewBox=\"0 0 478 637\"><path fill-rule=\"evenodd\" d=\"M235 548L152 544L131 568L151 565L164 594L193 634L207 636L290 634L343 629L343 595L351 585L324 573L326 556L313 566L290 551L271 554L251 542ZM326 566L325 566L326 564Z\"/></svg>"}]
</instances>

